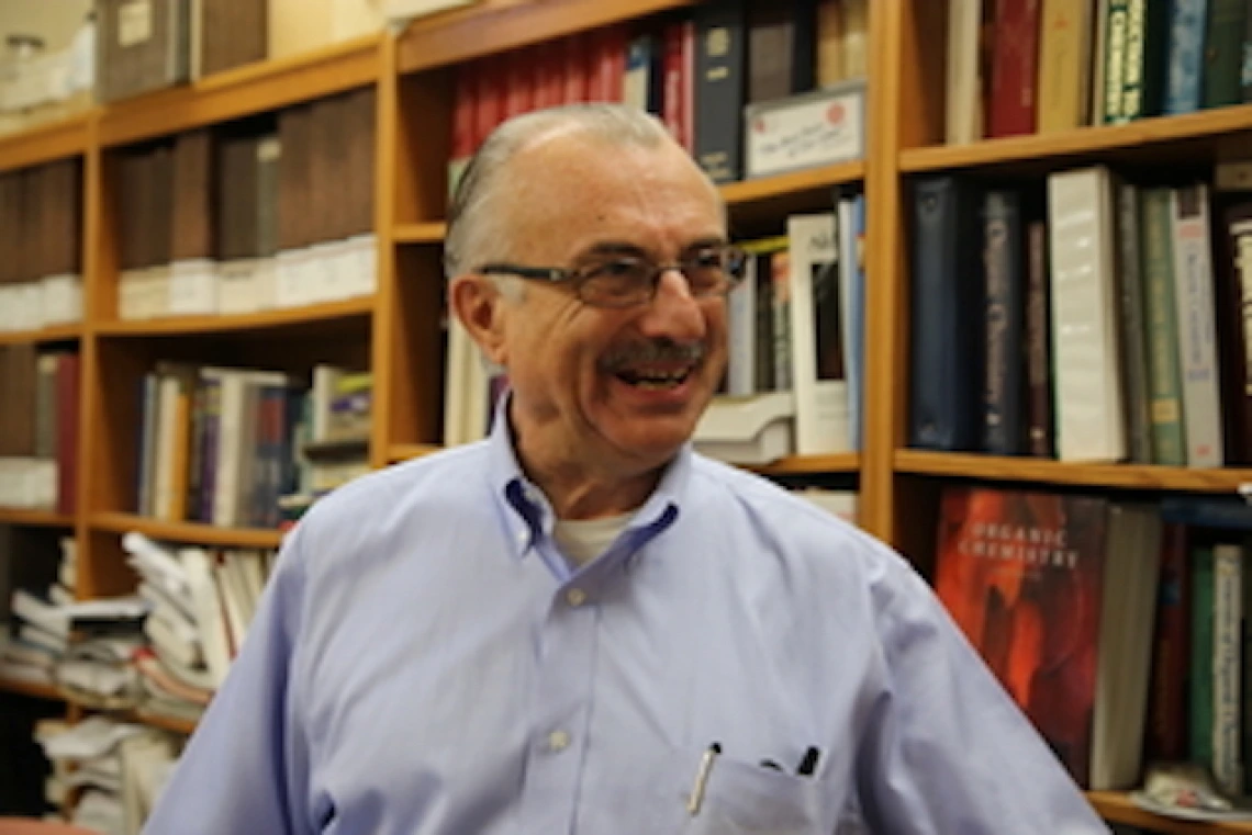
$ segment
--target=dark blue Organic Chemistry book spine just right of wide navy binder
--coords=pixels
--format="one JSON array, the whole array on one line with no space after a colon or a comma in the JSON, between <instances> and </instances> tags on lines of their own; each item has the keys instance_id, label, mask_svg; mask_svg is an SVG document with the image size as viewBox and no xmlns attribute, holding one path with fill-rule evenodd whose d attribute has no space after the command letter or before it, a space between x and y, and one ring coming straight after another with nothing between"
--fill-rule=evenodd
<instances>
[{"instance_id":1,"label":"dark blue Organic Chemistry book spine just right of wide navy binder","mask_svg":"<svg viewBox=\"0 0 1252 835\"><path fill-rule=\"evenodd\" d=\"M989 191L983 202L985 378L983 450L1022 451L1022 219L1018 195Z\"/></svg>"}]
</instances>

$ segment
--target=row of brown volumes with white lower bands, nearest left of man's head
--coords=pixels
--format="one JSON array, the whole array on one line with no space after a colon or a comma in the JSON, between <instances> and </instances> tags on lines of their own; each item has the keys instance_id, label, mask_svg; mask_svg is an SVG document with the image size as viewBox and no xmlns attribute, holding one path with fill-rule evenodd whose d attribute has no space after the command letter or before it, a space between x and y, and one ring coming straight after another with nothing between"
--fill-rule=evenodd
<instances>
[{"instance_id":1,"label":"row of brown volumes with white lower bands, nearest left of man's head","mask_svg":"<svg viewBox=\"0 0 1252 835\"><path fill-rule=\"evenodd\" d=\"M119 159L118 315L244 314L369 295L373 88Z\"/></svg>"}]
</instances>

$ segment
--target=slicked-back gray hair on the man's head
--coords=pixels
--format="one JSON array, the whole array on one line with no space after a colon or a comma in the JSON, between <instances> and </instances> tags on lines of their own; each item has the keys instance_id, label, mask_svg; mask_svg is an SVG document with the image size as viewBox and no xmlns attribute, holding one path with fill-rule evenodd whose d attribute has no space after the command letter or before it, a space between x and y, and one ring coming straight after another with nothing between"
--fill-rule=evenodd
<instances>
[{"instance_id":1,"label":"slicked-back gray hair on the man's head","mask_svg":"<svg viewBox=\"0 0 1252 835\"><path fill-rule=\"evenodd\" d=\"M493 251L501 246L498 219L485 206L498 189L508 161L536 140L570 129L613 145L660 148L674 141L660 120L630 105L575 104L510 119L492 131L457 184L443 241L443 269L449 280L471 271L475 261L502 255ZM508 290L510 295L517 292L517 288Z\"/></svg>"}]
</instances>

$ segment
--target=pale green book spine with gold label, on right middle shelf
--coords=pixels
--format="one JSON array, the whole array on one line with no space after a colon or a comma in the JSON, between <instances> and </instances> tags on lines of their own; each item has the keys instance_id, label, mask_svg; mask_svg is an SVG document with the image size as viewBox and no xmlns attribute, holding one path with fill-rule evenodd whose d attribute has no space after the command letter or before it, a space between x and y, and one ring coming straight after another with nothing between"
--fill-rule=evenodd
<instances>
[{"instance_id":1,"label":"pale green book spine with gold label, on right middle shelf","mask_svg":"<svg viewBox=\"0 0 1252 835\"><path fill-rule=\"evenodd\" d=\"M1144 189L1139 210L1143 212L1139 229L1148 342L1148 396L1152 404L1152 462L1186 466L1169 189Z\"/></svg>"}]
</instances>

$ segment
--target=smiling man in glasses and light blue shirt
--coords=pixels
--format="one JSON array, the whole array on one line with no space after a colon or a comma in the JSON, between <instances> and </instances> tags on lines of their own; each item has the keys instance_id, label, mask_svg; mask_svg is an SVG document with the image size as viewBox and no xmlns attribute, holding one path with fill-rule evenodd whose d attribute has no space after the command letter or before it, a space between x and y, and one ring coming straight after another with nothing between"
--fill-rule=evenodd
<instances>
[{"instance_id":1,"label":"smiling man in glasses and light blue shirt","mask_svg":"<svg viewBox=\"0 0 1252 835\"><path fill-rule=\"evenodd\" d=\"M690 449L741 262L659 122L501 128L447 265L491 438L288 538L148 832L1106 831L903 559Z\"/></svg>"}]
</instances>

